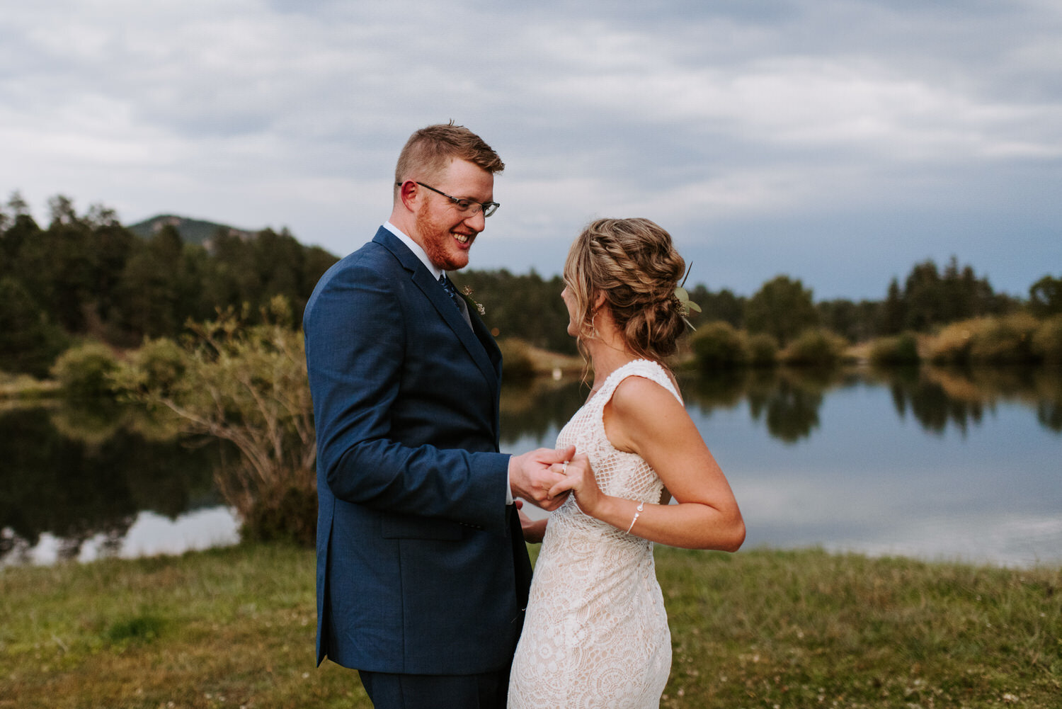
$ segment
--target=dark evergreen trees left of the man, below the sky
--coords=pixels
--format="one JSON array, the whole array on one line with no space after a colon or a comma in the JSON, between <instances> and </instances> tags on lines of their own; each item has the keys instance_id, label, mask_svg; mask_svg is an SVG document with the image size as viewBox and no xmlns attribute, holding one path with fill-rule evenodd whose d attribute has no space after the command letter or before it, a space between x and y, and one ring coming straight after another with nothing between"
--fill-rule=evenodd
<instances>
[{"instance_id":1,"label":"dark evergreen trees left of the man, below the sky","mask_svg":"<svg viewBox=\"0 0 1062 709\"><path fill-rule=\"evenodd\" d=\"M200 246L172 225L140 238L113 209L78 214L63 196L49 212L41 227L18 193L0 207L0 370L42 376L78 338L134 348L219 309L257 313L274 296L301 313L336 261L287 230L249 239L222 229Z\"/></svg>"}]
</instances>

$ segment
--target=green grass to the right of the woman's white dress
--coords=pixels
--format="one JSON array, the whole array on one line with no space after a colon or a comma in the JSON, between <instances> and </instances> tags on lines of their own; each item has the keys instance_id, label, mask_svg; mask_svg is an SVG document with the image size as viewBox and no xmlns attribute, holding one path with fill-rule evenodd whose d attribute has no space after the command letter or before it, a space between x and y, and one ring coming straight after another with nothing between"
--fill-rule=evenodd
<instances>
[{"instance_id":1,"label":"green grass to the right of the woman's white dress","mask_svg":"<svg viewBox=\"0 0 1062 709\"><path fill-rule=\"evenodd\" d=\"M662 550L666 707L1058 707L1062 570Z\"/></svg>"}]
</instances>

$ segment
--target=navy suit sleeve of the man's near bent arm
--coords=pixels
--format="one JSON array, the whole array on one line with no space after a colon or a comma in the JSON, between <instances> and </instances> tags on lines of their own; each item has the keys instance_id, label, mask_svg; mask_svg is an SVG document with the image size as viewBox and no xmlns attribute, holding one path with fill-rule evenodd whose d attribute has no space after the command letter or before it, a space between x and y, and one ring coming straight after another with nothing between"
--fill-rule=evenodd
<instances>
[{"instance_id":1,"label":"navy suit sleeve of the man's near bent arm","mask_svg":"<svg viewBox=\"0 0 1062 709\"><path fill-rule=\"evenodd\" d=\"M397 440L394 420L404 377L411 376L408 357L424 347L411 341L424 323L411 322L409 302L423 296L405 271L396 277L365 260L324 282L304 318L318 465L331 493L390 512L504 525L508 455L466 450L459 436L455 448ZM429 356L422 355L422 367L431 365ZM447 413L458 405L448 401L452 396L432 399L427 387L416 393L415 408L439 426L456 418ZM425 438L412 429L406 438Z\"/></svg>"}]
</instances>

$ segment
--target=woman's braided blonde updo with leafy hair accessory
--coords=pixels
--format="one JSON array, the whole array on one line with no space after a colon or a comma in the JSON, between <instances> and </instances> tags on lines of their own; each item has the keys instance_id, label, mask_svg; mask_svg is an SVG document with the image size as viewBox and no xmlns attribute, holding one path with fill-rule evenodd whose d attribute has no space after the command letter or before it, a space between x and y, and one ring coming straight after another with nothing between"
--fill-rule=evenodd
<instances>
[{"instance_id":1,"label":"woman's braided blonde updo with leafy hair accessory","mask_svg":"<svg viewBox=\"0 0 1062 709\"><path fill-rule=\"evenodd\" d=\"M685 330L674 299L685 269L671 235L648 219L590 222L564 264L564 282L581 318L580 340L594 332L594 303L604 293L632 352L656 360L673 355Z\"/></svg>"}]
</instances>

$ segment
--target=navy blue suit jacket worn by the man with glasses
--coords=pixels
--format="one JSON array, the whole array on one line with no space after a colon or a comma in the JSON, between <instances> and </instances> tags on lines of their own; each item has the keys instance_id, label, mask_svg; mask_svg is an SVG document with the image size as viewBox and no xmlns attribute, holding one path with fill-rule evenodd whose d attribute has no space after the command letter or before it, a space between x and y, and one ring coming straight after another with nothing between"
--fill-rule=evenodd
<instances>
[{"instance_id":1,"label":"navy blue suit jacket worn by the man with glasses","mask_svg":"<svg viewBox=\"0 0 1062 709\"><path fill-rule=\"evenodd\" d=\"M506 506L501 354L380 229L304 316L318 433L318 663L473 674L512 661L531 565Z\"/></svg>"}]
</instances>

